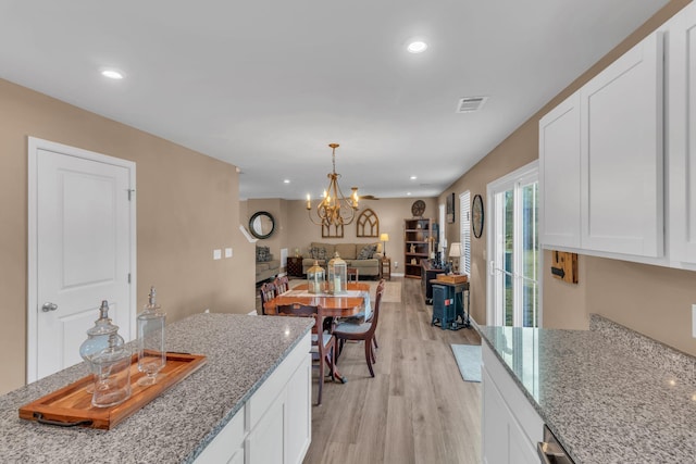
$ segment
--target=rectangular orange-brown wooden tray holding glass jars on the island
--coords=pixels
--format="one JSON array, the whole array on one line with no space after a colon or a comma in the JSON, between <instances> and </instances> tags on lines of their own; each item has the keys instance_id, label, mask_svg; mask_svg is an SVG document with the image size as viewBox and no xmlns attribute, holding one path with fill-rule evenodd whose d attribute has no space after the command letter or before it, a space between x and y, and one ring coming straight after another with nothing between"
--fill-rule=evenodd
<instances>
[{"instance_id":1,"label":"rectangular orange-brown wooden tray holding glass jars on the island","mask_svg":"<svg viewBox=\"0 0 696 464\"><path fill-rule=\"evenodd\" d=\"M110 407L91 405L92 376L55 390L36 401L20 407L20 417L38 421L41 424L63 427L89 427L111 429L126 417L152 401L170 387L178 384L206 364L206 356L185 353L166 353L166 365L157 377L157 384L139 386L138 379L145 374L138 371L138 355L130 358L130 398Z\"/></svg>"}]
</instances>

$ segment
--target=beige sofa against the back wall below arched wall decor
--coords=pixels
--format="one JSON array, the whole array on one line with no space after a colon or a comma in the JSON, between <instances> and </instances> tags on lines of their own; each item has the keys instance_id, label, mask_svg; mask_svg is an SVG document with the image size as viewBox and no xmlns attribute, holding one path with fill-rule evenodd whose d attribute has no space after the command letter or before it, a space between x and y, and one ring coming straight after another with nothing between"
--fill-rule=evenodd
<instances>
[{"instance_id":1,"label":"beige sofa against the back wall below arched wall decor","mask_svg":"<svg viewBox=\"0 0 696 464\"><path fill-rule=\"evenodd\" d=\"M326 263L334 258L336 251L348 267L358 269L360 277L380 277L382 275L382 242L312 242L302 255L302 274L307 274L307 271L314 265L314 261L319 261L319 265L325 268Z\"/></svg>"}]
</instances>

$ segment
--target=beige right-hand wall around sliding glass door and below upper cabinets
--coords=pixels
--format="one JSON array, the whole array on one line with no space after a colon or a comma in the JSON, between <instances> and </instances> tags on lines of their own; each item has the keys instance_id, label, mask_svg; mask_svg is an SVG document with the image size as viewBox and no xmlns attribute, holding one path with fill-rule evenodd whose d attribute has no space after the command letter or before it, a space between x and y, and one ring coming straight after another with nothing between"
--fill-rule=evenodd
<instances>
[{"instance_id":1,"label":"beige right-hand wall around sliding glass door and below upper cabinets","mask_svg":"<svg viewBox=\"0 0 696 464\"><path fill-rule=\"evenodd\" d=\"M549 101L478 164L450 186L445 196L471 190L484 196L486 185L538 158L538 120L550 109L613 62L643 37L688 4L673 0L636 29L568 88ZM458 201L457 201L458 203ZM456 206L459 209L459 204ZM459 223L448 225L447 236L456 237ZM472 238L472 315L486 322L485 230L481 239ZM591 313L602 314L667 344L696 355L696 340L691 337L691 304L696 303L696 274L659 266L580 256L580 284L569 285L550 277L550 254L544 253L543 317L551 328L587 328Z\"/></svg>"}]
</instances>

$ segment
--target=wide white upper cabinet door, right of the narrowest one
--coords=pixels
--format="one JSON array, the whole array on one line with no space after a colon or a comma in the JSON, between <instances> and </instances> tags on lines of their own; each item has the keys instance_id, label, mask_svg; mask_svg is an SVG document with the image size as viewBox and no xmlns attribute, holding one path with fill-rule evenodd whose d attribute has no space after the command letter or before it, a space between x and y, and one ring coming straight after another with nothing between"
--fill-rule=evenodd
<instances>
[{"instance_id":1,"label":"wide white upper cabinet door, right of the narrowest one","mask_svg":"<svg viewBox=\"0 0 696 464\"><path fill-rule=\"evenodd\" d=\"M582 247L663 254L662 35L581 89Z\"/></svg>"}]
</instances>

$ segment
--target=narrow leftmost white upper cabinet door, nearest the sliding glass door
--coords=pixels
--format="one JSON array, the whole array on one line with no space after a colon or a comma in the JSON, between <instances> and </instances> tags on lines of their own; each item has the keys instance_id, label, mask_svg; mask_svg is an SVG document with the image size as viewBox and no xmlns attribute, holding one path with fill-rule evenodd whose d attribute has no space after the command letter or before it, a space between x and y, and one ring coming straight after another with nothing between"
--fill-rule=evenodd
<instances>
[{"instance_id":1,"label":"narrow leftmost white upper cabinet door, nearest the sliding glass door","mask_svg":"<svg viewBox=\"0 0 696 464\"><path fill-rule=\"evenodd\" d=\"M580 93L539 121L542 246L580 248Z\"/></svg>"}]
</instances>

